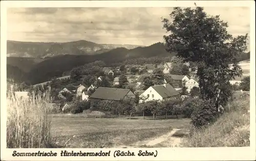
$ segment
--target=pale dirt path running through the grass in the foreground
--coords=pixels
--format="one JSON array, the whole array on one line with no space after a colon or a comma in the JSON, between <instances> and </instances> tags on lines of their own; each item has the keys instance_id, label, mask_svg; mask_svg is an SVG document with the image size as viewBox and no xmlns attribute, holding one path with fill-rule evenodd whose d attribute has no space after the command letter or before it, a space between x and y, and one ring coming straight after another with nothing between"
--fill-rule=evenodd
<instances>
[{"instance_id":1,"label":"pale dirt path running through the grass in the foreground","mask_svg":"<svg viewBox=\"0 0 256 161\"><path fill-rule=\"evenodd\" d=\"M181 143L181 138L173 137L174 133L180 129L174 128L172 131L168 132L165 135L156 138L150 138L147 140L136 142L131 146L119 146L117 148L136 148L136 147L151 147L151 146L159 146L159 147L175 147L179 146Z\"/></svg>"}]
</instances>

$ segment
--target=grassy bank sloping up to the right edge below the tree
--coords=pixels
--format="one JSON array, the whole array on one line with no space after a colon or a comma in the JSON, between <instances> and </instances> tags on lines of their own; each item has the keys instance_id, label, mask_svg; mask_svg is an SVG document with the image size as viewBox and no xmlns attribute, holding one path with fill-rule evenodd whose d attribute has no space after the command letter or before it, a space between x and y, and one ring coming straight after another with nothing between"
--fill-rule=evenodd
<instances>
[{"instance_id":1,"label":"grassy bank sloping up to the right edge below the tree","mask_svg":"<svg viewBox=\"0 0 256 161\"><path fill-rule=\"evenodd\" d=\"M208 128L194 132L183 141L183 147L250 146L250 98L231 102L228 111Z\"/></svg>"}]
</instances>

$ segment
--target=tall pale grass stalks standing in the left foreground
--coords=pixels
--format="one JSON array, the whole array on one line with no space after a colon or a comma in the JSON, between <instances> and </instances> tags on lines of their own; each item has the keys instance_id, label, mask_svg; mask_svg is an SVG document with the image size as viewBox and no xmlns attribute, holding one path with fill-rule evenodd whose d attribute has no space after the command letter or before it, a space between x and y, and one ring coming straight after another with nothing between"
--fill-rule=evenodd
<instances>
[{"instance_id":1,"label":"tall pale grass stalks standing in the left foreground","mask_svg":"<svg viewBox=\"0 0 256 161\"><path fill-rule=\"evenodd\" d=\"M51 115L49 91L33 92L29 98L15 98L7 93L7 148L50 148Z\"/></svg>"}]
</instances>

